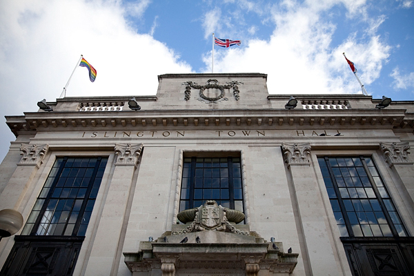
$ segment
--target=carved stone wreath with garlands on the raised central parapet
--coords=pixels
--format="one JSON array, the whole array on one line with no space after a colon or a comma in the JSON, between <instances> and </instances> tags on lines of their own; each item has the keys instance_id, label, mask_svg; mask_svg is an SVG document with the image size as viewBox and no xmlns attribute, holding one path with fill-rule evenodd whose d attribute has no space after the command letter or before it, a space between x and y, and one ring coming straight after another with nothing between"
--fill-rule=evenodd
<instances>
[{"instance_id":1,"label":"carved stone wreath with garlands on the raised central parapet","mask_svg":"<svg viewBox=\"0 0 414 276\"><path fill-rule=\"evenodd\" d=\"M208 81L206 81L206 85L205 86L200 86L198 83L195 83L193 81L186 81L184 83L182 83L182 85L186 86L186 90L184 91L184 99L186 101L188 101L190 99L191 96L191 88L195 88L195 89L199 89L199 96L201 98L201 100L205 100L205 101L210 101L210 102L217 102L217 101L227 101L228 99L226 97L224 97L224 90L225 89L230 89L233 88L233 95L235 96L236 101L238 101L240 99L240 91L239 91L239 84L243 84L242 82L239 81L230 81L230 82L226 82L226 85L221 86L219 85L219 81L217 81L217 79L209 79ZM220 95L217 97L207 97L204 94L204 91L206 89L218 89L220 90Z\"/></svg>"}]
</instances>

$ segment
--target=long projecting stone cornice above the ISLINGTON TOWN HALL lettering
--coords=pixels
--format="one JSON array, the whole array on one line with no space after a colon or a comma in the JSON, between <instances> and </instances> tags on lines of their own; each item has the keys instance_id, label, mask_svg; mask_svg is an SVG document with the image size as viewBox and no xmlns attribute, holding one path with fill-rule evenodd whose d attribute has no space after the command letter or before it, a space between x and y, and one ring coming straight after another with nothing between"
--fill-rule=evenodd
<instances>
[{"instance_id":1,"label":"long projecting stone cornice above the ISLINGTON TOWN HALL lettering","mask_svg":"<svg viewBox=\"0 0 414 276\"><path fill-rule=\"evenodd\" d=\"M405 110L145 110L115 112L26 112L7 116L7 124L18 135L41 128L112 128L130 126L274 126L315 128L414 128L414 116Z\"/></svg>"}]
</instances>

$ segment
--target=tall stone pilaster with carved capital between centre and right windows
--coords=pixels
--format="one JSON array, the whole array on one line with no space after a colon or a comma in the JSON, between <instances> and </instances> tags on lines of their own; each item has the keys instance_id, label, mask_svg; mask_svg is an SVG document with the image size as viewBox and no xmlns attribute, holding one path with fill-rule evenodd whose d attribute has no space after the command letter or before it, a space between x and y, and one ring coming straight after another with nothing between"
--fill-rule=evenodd
<instances>
[{"instance_id":1,"label":"tall stone pilaster with carved capital between centre and right windows","mask_svg":"<svg viewBox=\"0 0 414 276\"><path fill-rule=\"evenodd\" d=\"M290 169L294 194L304 235L304 259L312 275L341 275L342 269L337 266L329 237L328 218L322 201L321 190L317 183L315 170L311 166L311 145L282 144L285 161ZM326 191L323 191L326 193ZM294 249L297 250L297 249Z\"/></svg>"}]
</instances>

